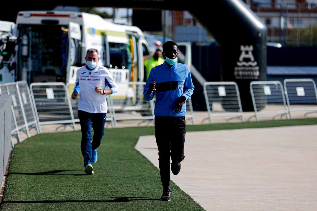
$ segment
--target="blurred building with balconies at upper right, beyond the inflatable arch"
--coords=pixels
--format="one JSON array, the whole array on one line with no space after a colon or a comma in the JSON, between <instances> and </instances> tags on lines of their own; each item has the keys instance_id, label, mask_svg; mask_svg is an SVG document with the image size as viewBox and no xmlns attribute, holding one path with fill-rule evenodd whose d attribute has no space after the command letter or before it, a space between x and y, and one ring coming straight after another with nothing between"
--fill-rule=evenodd
<instances>
[{"instance_id":1,"label":"blurred building with balconies at upper right, beyond the inflatable arch","mask_svg":"<svg viewBox=\"0 0 317 211\"><path fill-rule=\"evenodd\" d=\"M268 28L268 42L317 45L317 0L247 0Z\"/></svg>"}]
</instances>

